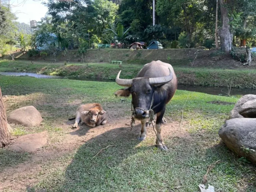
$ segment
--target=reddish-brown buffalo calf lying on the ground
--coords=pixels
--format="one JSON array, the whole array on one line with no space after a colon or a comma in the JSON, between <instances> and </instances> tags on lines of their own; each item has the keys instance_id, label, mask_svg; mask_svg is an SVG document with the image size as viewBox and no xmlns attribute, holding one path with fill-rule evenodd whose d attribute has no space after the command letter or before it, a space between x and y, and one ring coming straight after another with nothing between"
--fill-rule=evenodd
<instances>
[{"instance_id":1,"label":"reddish-brown buffalo calf lying on the ground","mask_svg":"<svg viewBox=\"0 0 256 192\"><path fill-rule=\"evenodd\" d=\"M75 124L72 128L77 128L78 123L81 120L81 125L85 123L90 127L97 125L105 125L107 123L106 111L103 110L99 103L88 103L80 105L76 111L76 117L70 118L69 120L75 120Z\"/></svg>"}]
</instances>

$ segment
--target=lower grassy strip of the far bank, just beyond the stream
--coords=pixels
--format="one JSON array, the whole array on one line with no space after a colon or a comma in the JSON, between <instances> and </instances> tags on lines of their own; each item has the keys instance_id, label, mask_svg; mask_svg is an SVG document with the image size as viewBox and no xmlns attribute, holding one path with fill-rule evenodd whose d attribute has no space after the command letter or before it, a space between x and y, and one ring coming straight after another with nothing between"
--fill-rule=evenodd
<instances>
[{"instance_id":1,"label":"lower grassy strip of the far bank, just beyond the stream","mask_svg":"<svg viewBox=\"0 0 256 192\"><path fill-rule=\"evenodd\" d=\"M144 63L145 64L145 63ZM46 63L17 60L0 61L0 72L33 72L47 75L60 75L73 78L98 78L114 80L122 70L121 78L134 78L141 64L115 65L109 63ZM174 66L179 84L212 87L256 88L255 69L213 69L205 67Z\"/></svg>"}]
</instances>

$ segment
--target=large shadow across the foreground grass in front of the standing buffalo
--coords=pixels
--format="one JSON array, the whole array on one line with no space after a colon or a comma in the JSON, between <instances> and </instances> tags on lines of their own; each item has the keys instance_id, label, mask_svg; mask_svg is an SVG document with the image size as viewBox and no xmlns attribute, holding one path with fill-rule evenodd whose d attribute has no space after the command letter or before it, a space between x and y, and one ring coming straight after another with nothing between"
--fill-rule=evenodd
<instances>
[{"instance_id":1,"label":"large shadow across the foreground grass in front of the standing buffalo","mask_svg":"<svg viewBox=\"0 0 256 192\"><path fill-rule=\"evenodd\" d=\"M132 131L120 127L90 139L76 151L65 171L28 191L198 191L209 166L218 160L207 175L206 186L223 192L256 191L255 167L240 161L222 144L207 147L213 138L194 135L192 139L174 137L170 142L167 136L169 151L164 152L153 146L155 137L139 142L137 131L138 127Z\"/></svg>"}]
</instances>

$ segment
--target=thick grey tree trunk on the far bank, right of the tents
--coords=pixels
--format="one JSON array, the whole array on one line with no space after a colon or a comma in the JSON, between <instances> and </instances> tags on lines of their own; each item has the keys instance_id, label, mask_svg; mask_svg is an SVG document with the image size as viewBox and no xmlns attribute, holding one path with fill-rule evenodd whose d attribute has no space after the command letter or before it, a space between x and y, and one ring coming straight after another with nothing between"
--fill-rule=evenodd
<instances>
[{"instance_id":1,"label":"thick grey tree trunk on the far bank, right of the tents","mask_svg":"<svg viewBox=\"0 0 256 192\"><path fill-rule=\"evenodd\" d=\"M220 1L221 21L222 21L222 27L219 31L220 40L221 40L221 49L226 54L229 54L232 49L233 34L230 31L230 24L229 24L230 21L228 17L227 1L225 0L219 0L219 1Z\"/></svg>"}]
</instances>

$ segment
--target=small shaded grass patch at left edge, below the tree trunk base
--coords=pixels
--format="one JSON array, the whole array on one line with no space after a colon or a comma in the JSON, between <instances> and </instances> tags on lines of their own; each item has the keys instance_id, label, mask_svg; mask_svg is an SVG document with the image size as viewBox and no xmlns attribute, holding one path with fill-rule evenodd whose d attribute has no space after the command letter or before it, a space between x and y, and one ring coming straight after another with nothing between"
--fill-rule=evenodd
<instances>
[{"instance_id":1,"label":"small shaded grass patch at left edge, below the tree trunk base","mask_svg":"<svg viewBox=\"0 0 256 192\"><path fill-rule=\"evenodd\" d=\"M30 157L30 153L27 152L0 149L0 173L7 167L12 167L27 161Z\"/></svg>"}]
</instances>

